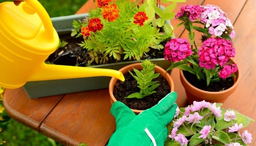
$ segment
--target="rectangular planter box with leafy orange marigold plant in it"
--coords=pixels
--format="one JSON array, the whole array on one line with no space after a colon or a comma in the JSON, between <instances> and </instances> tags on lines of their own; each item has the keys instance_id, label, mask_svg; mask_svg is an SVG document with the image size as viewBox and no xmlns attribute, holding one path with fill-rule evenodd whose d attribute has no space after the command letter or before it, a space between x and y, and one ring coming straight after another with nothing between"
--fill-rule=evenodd
<instances>
[{"instance_id":1,"label":"rectangular planter box with leafy orange marigold plant in it","mask_svg":"<svg viewBox=\"0 0 256 146\"><path fill-rule=\"evenodd\" d=\"M184 1L184 0L180 0L180 1ZM81 65L81 66L87 66L87 67L89 66L93 68L105 68L105 69L114 69L114 70L118 70L128 64L140 62L141 60L146 58L150 58L151 61L155 62L157 65L161 66L164 69L170 66L170 62L166 61L163 58L163 56L160 56L160 57L158 56L158 54L162 55L163 53L155 53L154 51L152 53L149 50L163 50L163 46L165 42L162 42L162 41L165 40L166 38L174 37L173 33L171 33L172 27L170 26L169 19L174 18L174 13L172 13L171 11L173 11L173 9L176 7L176 2L171 3L170 6L166 7L164 10L157 7L157 3L155 3L155 1L153 0L147 1L143 4L139 4L138 1L131 2L128 0L120 0L120 1L118 0L115 3L113 3L109 0L109 1L105 1L102 4L106 5L107 2L108 2L107 6L110 7L110 6L116 5L114 7L117 7L115 10L118 11L119 16L118 18L115 18L115 21L112 21L114 19L103 18L101 12L103 12L104 7L97 7L96 9L91 9L89 14L84 14L84 15L82 14L78 16L73 15L73 16L76 16L75 19L72 19L73 16L62 16L60 18L52 18L54 28L56 28L57 31L58 31L58 28L61 28L61 30L59 31L59 36L66 33L69 33L70 35L71 33L72 35L75 35L77 38L80 39L79 43L81 43L80 44L81 46L88 49L87 51L86 49L82 49L82 50L80 49L80 52L82 52L83 56L86 57L86 59L84 59L83 61L80 61L82 60L81 56L79 55L75 56L74 51L77 50L77 48L73 50L67 50L66 48L68 45L57 49L56 52L54 52L56 57L62 58L64 56L69 56L69 57L72 56L72 58L68 58L68 59L63 58L63 59L67 60L68 63L70 63L71 60L74 60L75 65L78 65L78 66ZM97 1L95 4L97 4ZM98 5L100 6L100 4ZM137 7L138 5L139 7ZM139 26L140 24L142 25L142 23L137 24L139 22L138 19L136 19L138 20L136 24L133 23L133 21L135 21L133 16L138 12L146 12L146 18L148 20L143 23L143 26ZM155 14L157 14L157 16L155 16ZM86 39L83 40L82 32L84 34L84 29L86 29L87 24L89 23L88 20L89 19L96 20L96 17L101 19L101 24L103 25L102 29L100 31L98 30L96 32L90 32L90 37L89 36L84 37ZM67 22L70 24L70 26L72 26L72 22L74 20L73 26L72 27L63 26L67 22L62 22L62 19L67 19ZM109 22L109 20L111 21ZM115 23L116 23L116 26L114 27ZM120 25L121 23L122 25ZM123 25L123 23L126 25ZM122 26L122 28L120 28L120 26ZM81 29L82 29L82 32L81 32ZM120 32L114 32L113 30L115 31L121 30L121 34L123 35L121 35ZM130 32L124 33L125 32L124 30L125 31L130 30ZM109 31L113 31L112 33L114 34L111 35ZM149 34L145 35L148 32L150 32L150 35ZM144 34L145 35L144 37L146 37L146 39L143 38L142 35L139 35L140 33ZM122 45L122 43L120 43L121 40L117 42L117 39L115 39L117 38L117 36L118 36L118 39L121 38L120 36L125 37L123 41L127 42L128 44ZM151 38L149 38L150 36ZM71 40L74 40L74 38L75 37L71 38ZM81 42L81 38L82 38L82 42ZM103 42L99 41L98 39ZM113 43L113 40L115 40L114 45L111 44ZM93 43L95 41L98 43ZM108 43L108 41L110 42L112 41L112 42ZM138 45L138 42L142 44L140 45L140 50L138 49L138 47L135 47L136 44ZM103 49L106 46L108 46L108 50ZM78 45L76 47L80 47L80 46ZM146 54L147 51L149 51L148 54ZM102 52L102 54L99 54L99 52ZM129 53L125 55L124 52L129 52ZM154 59L152 59L152 57L150 57L149 54L156 54L156 56ZM124 58L127 61L123 61ZM51 61L48 59L47 62L51 62ZM77 63L77 62L80 62L80 63ZM97 65L97 62L99 65ZM55 62L51 62L51 63L56 64ZM69 64L65 64L65 65L69 65ZM72 92L107 88L109 81L110 81L110 77L76 78L76 79L54 80L53 82L52 81L33 81L33 82L27 82L27 84L23 86L23 88L25 89L25 91L27 92L30 98L38 98L38 97L44 97L49 95L59 95L63 93L72 93ZM87 84L88 82L92 82L93 84L90 84L88 86ZM71 84L72 84L72 87L70 87ZM38 95L38 93L40 93L40 95Z\"/></svg>"}]
</instances>

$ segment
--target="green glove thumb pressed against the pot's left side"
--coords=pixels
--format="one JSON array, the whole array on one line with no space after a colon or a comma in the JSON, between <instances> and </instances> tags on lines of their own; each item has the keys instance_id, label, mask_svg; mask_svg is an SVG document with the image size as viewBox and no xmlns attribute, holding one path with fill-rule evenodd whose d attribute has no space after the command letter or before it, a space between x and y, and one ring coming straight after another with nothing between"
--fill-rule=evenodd
<instances>
[{"instance_id":1,"label":"green glove thumb pressed against the pot's left side","mask_svg":"<svg viewBox=\"0 0 256 146\"><path fill-rule=\"evenodd\" d=\"M116 127L129 124L135 117L134 112L120 101L113 103L110 113L116 118Z\"/></svg>"}]
</instances>

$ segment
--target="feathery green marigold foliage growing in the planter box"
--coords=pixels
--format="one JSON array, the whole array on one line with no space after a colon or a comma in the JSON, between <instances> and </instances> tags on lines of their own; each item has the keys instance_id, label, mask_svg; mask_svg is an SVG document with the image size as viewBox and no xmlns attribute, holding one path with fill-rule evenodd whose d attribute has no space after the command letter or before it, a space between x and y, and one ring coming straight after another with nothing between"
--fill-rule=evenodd
<instances>
[{"instance_id":1,"label":"feathery green marigold foliage growing in the planter box","mask_svg":"<svg viewBox=\"0 0 256 146\"><path fill-rule=\"evenodd\" d=\"M91 32L91 36L79 44L89 51L91 62L106 63L109 57L114 57L116 60L140 60L150 49L163 49L160 43L169 38L171 34L161 32L160 28L153 26L151 22L144 23L143 26L133 23L133 16L139 11L145 11L147 3L138 7L136 2L117 0L115 4L117 9L120 9L116 21L108 22L104 19L101 14L102 8L91 9L89 12L90 18L99 18L103 24L101 31ZM74 22L73 24L79 26L81 23ZM88 21L83 21L82 26L87 25ZM121 58L122 56L124 58Z\"/></svg>"}]
</instances>

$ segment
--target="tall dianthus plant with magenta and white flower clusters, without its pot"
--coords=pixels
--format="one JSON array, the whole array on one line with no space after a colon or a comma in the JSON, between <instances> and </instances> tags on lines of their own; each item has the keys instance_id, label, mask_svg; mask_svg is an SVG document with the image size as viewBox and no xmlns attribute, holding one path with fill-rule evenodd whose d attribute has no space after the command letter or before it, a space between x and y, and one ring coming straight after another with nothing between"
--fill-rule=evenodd
<instances>
[{"instance_id":1,"label":"tall dianthus plant with magenta and white flower clusters, without its pot","mask_svg":"<svg viewBox=\"0 0 256 146\"><path fill-rule=\"evenodd\" d=\"M225 12L215 5L184 5L175 19L181 21L175 28L184 26L188 30L189 41L174 38L166 43L165 59L171 62L167 70L186 70L206 81L207 86L235 76L237 65L230 60L236 54L231 41L235 31ZM202 35L199 45L195 43L194 30Z\"/></svg>"}]
</instances>

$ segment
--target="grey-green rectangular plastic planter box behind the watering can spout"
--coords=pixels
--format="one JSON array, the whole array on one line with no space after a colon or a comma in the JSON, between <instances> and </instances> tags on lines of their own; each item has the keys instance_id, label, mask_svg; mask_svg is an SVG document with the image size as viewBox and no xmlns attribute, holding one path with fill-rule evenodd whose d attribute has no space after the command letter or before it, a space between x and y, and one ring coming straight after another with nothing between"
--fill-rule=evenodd
<instances>
[{"instance_id":1,"label":"grey-green rectangular plastic planter box behind the watering can spout","mask_svg":"<svg viewBox=\"0 0 256 146\"><path fill-rule=\"evenodd\" d=\"M86 14L78 15L69 15L69 16L60 16L51 18L53 26L58 32L58 34L67 34L71 33L72 22L73 20L82 20ZM166 61L164 58L151 59L152 62L161 66L164 69L167 69L170 66L170 62ZM129 62L120 62L106 65L96 65L92 66L93 68L105 68L105 69L114 69L119 70L123 66L132 64L135 62L141 61L129 61ZM61 80L47 80L47 81L30 81L27 82L23 89L26 91L30 99L37 99L39 97L61 95L74 92L89 91L95 89L108 88L109 81L111 77L87 77L87 78L70 78L70 79L61 79Z\"/></svg>"}]
</instances>

